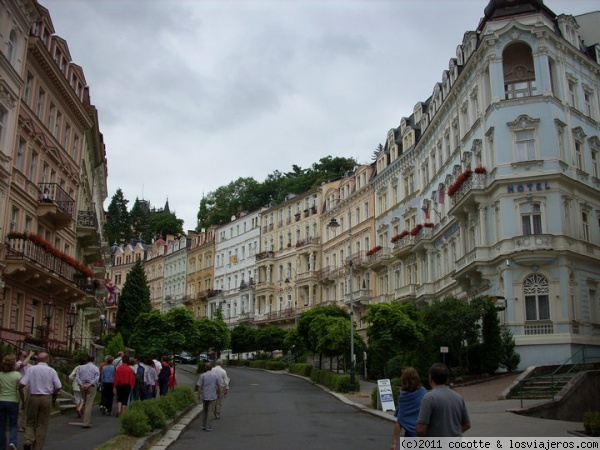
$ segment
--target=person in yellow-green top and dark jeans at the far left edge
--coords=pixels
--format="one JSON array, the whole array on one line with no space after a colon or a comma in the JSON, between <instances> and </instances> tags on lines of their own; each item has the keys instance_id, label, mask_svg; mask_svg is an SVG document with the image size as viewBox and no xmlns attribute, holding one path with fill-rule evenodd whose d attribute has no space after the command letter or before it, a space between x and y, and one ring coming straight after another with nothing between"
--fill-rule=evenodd
<instances>
[{"instance_id":1,"label":"person in yellow-green top and dark jeans at the far left edge","mask_svg":"<svg viewBox=\"0 0 600 450\"><path fill-rule=\"evenodd\" d=\"M0 367L0 449L17 450L17 422L19 420L19 380L15 355L6 355ZM6 446L8 422L9 444Z\"/></svg>"}]
</instances>

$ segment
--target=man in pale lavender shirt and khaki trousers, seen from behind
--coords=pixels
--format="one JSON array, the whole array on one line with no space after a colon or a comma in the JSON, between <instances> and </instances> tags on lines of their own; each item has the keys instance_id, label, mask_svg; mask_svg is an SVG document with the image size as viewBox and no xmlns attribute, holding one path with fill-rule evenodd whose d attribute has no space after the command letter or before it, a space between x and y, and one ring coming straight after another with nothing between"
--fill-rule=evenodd
<instances>
[{"instance_id":1,"label":"man in pale lavender shirt and khaki trousers, seen from behind","mask_svg":"<svg viewBox=\"0 0 600 450\"><path fill-rule=\"evenodd\" d=\"M42 352L37 355L36 365L27 369L19 382L21 398L25 386L29 386L23 450L41 450L44 447L53 397L57 396L62 388L56 370L48 365L49 360L48 353ZM21 402L21 409L23 406L24 403Z\"/></svg>"}]
</instances>

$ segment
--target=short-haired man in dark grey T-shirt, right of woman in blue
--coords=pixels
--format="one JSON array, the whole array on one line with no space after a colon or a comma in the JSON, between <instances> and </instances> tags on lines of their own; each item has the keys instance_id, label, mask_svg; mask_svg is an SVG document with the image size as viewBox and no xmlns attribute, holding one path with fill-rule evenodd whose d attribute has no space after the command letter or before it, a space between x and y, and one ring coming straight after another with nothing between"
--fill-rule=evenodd
<instances>
[{"instance_id":1,"label":"short-haired man in dark grey T-shirt, right of woman in blue","mask_svg":"<svg viewBox=\"0 0 600 450\"><path fill-rule=\"evenodd\" d=\"M464 398L451 390L448 367L437 363L429 369L431 391L423 397L417 419L417 435L433 437L460 437L471 428Z\"/></svg>"}]
</instances>

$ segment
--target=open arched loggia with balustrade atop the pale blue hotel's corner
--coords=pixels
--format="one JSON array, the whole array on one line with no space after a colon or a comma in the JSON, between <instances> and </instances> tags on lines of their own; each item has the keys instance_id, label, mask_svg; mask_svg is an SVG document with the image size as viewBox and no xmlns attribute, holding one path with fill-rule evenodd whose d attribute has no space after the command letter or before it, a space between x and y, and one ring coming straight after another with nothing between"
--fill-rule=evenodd
<instances>
[{"instance_id":1,"label":"open arched loggia with balustrade atop the pale blue hotel's corner","mask_svg":"<svg viewBox=\"0 0 600 450\"><path fill-rule=\"evenodd\" d=\"M524 42L507 46L502 52L502 70L505 99L535 95L535 70L531 47Z\"/></svg>"}]
</instances>

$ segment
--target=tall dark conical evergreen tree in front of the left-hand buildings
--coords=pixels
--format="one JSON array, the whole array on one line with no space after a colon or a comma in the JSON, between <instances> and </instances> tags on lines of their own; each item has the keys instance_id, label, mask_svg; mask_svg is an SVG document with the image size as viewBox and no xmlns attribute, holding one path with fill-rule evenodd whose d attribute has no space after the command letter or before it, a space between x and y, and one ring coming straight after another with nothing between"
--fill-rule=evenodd
<instances>
[{"instance_id":1,"label":"tall dark conical evergreen tree in front of the left-hand buildings","mask_svg":"<svg viewBox=\"0 0 600 450\"><path fill-rule=\"evenodd\" d=\"M117 306L115 328L123 336L126 345L129 344L129 338L139 316L151 310L150 288L148 287L146 272L142 266L142 261L138 260L127 274L127 280L123 285Z\"/></svg>"}]
</instances>

